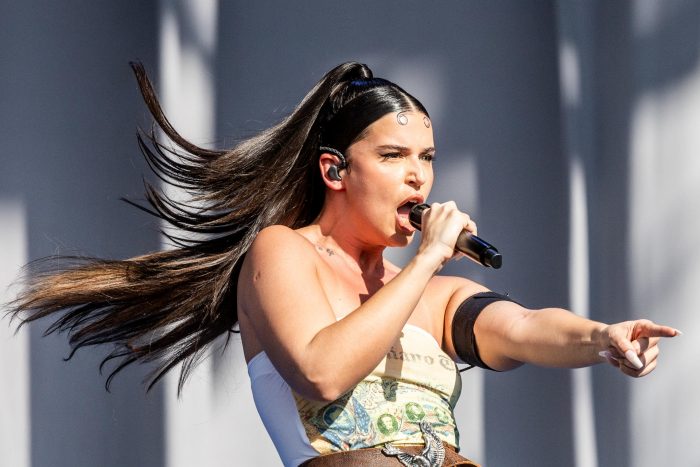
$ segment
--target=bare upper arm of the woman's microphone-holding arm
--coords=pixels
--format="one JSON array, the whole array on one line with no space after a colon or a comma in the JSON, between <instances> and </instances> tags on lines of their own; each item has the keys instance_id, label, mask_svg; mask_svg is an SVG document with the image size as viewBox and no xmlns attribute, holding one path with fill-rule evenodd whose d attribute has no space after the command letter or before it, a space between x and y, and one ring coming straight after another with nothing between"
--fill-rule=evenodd
<instances>
[{"instance_id":1,"label":"bare upper arm of the woman's microphone-holding arm","mask_svg":"<svg viewBox=\"0 0 700 467\"><path fill-rule=\"evenodd\" d=\"M300 368L309 342L336 321L318 267L308 240L287 227L272 226L258 234L238 280L240 311L292 384L303 378Z\"/></svg>"}]
</instances>

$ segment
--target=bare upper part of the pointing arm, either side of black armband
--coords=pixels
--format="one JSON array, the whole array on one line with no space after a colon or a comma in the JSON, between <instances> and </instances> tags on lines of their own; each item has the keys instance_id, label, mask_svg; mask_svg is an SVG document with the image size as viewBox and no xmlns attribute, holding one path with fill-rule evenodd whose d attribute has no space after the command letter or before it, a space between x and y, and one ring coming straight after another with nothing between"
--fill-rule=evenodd
<instances>
[{"instance_id":1,"label":"bare upper part of the pointing arm, either side of black armband","mask_svg":"<svg viewBox=\"0 0 700 467\"><path fill-rule=\"evenodd\" d=\"M459 306L472 295L486 292L483 286L457 288L447 305L445 311L445 351L456 361L461 361L457 356L452 340L452 324L454 315ZM474 323L474 338L481 360L490 368L504 371L521 365L520 361L512 358L515 345L515 332L527 316L529 310L521 305L508 300L499 300L486 305L478 315ZM456 336L459 338L459 336Z\"/></svg>"}]
</instances>

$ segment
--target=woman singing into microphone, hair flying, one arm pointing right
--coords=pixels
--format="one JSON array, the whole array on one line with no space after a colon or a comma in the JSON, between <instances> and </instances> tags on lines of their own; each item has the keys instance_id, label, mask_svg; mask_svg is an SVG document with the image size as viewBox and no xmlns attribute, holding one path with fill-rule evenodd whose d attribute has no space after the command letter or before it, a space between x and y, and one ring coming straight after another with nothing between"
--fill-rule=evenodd
<instances>
[{"instance_id":1,"label":"woman singing into microphone, hair flying, one arm pointing right","mask_svg":"<svg viewBox=\"0 0 700 467\"><path fill-rule=\"evenodd\" d=\"M474 465L457 454L455 362L496 371L523 363L574 368L608 361L639 377L656 366L648 320L604 324L558 308L530 310L467 278L437 273L474 221L453 202L409 212L434 182L430 116L358 63L329 71L278 125L231 150L199 148L163 115L177 145L139 137L174 201L147 187L151 212L197 234L123 261L75 259L35 276L15 302L26 321L51 316L74 349L109 343L110 375L157 361L151 384L238 324L258 412L286 466ZM283 252L283 253L282 253Z\"/></svg>"}]
</instances>

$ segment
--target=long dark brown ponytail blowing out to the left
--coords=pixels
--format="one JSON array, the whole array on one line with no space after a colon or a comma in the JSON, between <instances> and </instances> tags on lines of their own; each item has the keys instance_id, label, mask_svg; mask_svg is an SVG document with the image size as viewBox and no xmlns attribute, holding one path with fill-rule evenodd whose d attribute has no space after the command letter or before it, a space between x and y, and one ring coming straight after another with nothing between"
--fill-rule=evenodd
<instances>
[{"instance_id":1,"label":"long dark brown ponytail blowing out to the left","mask_svg":"<svg viewBox=\"0 0 700 467\"><path fill-rule=\"evenodd\" d=\"M303 227L319 215L325 195L319 147L345 151L387 113L427 112L397 85L374 78L366 65L348 62L329 71L279 124L231 150L205 149L175 131L143 66L131 66L171 142L160 141L154 127L138 133L139 148L158 177L191 195L191 201L178 201L146 183L149 206L137 207L193 235L164 232L176 248L126 260L39 260L10 314L22 324L54 317L46 334L69 333L69 359L81 347L112 344L100 365L101 371L117 361L107 389L131 363L158 362L149 389L182 363L179 392L212 341L238 321L240 266L258 232L273 224Z\"/></svg>"}]
</instances>

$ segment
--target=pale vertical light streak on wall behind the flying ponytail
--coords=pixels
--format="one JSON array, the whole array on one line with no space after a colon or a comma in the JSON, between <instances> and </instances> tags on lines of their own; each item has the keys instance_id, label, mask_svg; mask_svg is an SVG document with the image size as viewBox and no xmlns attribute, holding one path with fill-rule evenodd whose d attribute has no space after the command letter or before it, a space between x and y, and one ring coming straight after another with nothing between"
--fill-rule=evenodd
<instances>
[{"instance_id":1,"label":"pale vertical light streak on wall behind the flying ponytail","mask_svg":"<svg viewBox=\"0 0 700 467\"><path fill-rule=\"evenodd\" d=\"M216 44L218 2L161 1L160 97L173 126L193 143L206 146L214 135L214 83L211 69ZM187 27L187 22L190 22ZM171 187L175 199L186 195ZM180 232L180 234L182 234ZM167 247L167 245L165 245ZM178 400L179 367L165 380L166 463L168 467L216 465L212 417L212 365L202 362ZM198 425L201 425L198 427Z\"/></svg>"}]
</instances>

